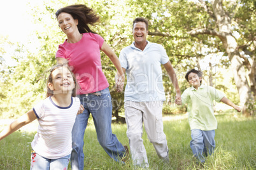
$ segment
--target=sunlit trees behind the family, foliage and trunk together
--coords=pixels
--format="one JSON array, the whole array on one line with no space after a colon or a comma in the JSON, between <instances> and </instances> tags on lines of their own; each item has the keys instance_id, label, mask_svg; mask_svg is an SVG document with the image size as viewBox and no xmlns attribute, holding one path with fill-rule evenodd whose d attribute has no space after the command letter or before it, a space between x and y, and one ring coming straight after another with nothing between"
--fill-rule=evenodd
<instances>
[{"instance_id":1,"label":"sunlit trees behind the family, foliage and trunk together","mask_svg":"<svg viewBox=\"0 0 256 170\"><path fill-rule=\"evenodd\" d=\"M57 25L55 11L69 4L81 3L92 7L101 16L101 21L94 30L110 44L117 56L122 48L133 41L134 18L137 16L148 18L150 22L148 41L162 44L166 49L176 69L181 91L188 86L184 79L188 69L194 67L200 69L201 58L223 52L229 60L222 58L218 67L228 68L231 64L235 75L238 75L235 76L235 82L239 87L241 104L248 102L252 97L250 91L255 91L255 0L45 0L38 3L32 2L34 1L29 4L31 11L28 12L38 25L38 29L33 34L36 35L39 46L36 51L29 51L27 46L36 43L28 39L29 44L18 46L16 52L11 55L17 60L18 65L11 68L11 74L4 74L5 83L9 86L0 86L0 95L6 96L0 99L3 101L0 110L6 111L8 108L15 110L15 114L22 114L23 111L31 108L35 101L43 99L46 70L56 63L55 52L59 44L66 39ZM0 50L3 51L3 49ZM114 89L116 69L104 53L101 53L101 59L110 90ZM3 65L2 63L0 64ZM208 76L215 76L215 79L222 78L220 75L212 74L210 70L204 72L207 72ZM174 98L174 88L166 72L163 73L166 94ZM250 77L248 79L250 86L245 78L246 74ZM221 83L218 84L217 88L225 89L221 85ZM232 95L236 96L233 93ZM118 119L120 110L124 110L124 93L111 90L111 96L113 115ZM6 107L3 107L4 105Z\"/></svg>"}]
</instances>

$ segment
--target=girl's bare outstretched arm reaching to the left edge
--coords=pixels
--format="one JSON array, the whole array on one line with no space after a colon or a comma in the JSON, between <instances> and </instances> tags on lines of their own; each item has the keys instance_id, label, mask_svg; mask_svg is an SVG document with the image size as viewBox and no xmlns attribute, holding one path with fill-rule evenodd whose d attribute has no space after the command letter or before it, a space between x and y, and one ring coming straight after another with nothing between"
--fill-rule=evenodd
<instances>
[{"instance_id":1,"label":"girl's bare outstretched arm reaching to the left edge","mask_svg":"<svg viewBox=\"0 0 256 170\"><path fill-rule=\"evenodd\" d=\"M11 124L0 133L0 141L3 140L3 138L5 138L6 136L10 135L11 133L22 128L22 126L25 126L26 124L29 124L30 122L34 121L35 119L37 119L36 114L34 114L34 111L32 109L29 110L29 112L22 115L17 120L11 122Z\"/></svg>"}]
</instances>

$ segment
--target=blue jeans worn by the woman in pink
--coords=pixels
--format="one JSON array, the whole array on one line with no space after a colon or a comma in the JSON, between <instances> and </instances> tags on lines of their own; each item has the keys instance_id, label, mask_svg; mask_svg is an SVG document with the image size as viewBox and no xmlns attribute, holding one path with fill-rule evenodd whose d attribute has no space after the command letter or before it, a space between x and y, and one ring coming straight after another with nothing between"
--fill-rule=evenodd
<instances>
[{"instance_id":1,"label":"blue jeans worn by the woman in pink","mask_svg":"<svg viewBox=\"0 0 256 170\"><path fill-rule=\"evenodd\" d=\"M83 136L90 114L92 114L94 120L99 144L111 158L120 162L120 159L122 159L125 154L125 148L122 143L118 141L117 136L112 133L112 103L109 89L106 88L97 91L96 94L78 95L78 98L80 98L81 104L85 110L82 114L76 116L72 130L73 150L71 153L71 168L73 170L83 169Z\"/></svg>"}]
</instances>

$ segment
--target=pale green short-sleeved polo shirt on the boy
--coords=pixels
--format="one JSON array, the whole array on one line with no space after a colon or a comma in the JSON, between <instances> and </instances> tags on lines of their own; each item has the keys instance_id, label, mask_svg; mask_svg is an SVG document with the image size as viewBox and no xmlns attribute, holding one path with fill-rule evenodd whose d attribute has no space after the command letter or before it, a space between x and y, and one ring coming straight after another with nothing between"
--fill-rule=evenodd
<instances>
[{"instance_id":1,"label":"pale green short-sleeved polo shirt on the boy","mask_svg":"<svg viewBox=\"0 0 256 170\"><path fill-rule=\"evenodd\" d=\"M217 129L213 100L220 102L224 93L211 86L201 84L198 89L193 86L185 89L181 95L182 104L188 105L188 122L190 129L211 131Z\"/></svg>"}]
</instances>

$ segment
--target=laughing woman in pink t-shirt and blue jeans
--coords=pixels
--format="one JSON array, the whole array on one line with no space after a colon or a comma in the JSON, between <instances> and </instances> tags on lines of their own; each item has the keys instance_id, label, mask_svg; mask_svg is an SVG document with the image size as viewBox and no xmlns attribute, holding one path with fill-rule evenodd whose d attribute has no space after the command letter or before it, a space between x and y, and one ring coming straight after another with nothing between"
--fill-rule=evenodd
<instances>
[{"instance_id":1,"label":"laughing woman in pink t-shirt and blue jeans","mask_svg":"<svg viewBox=\"0 0 256 170\"><path fill-rule=\"evenodd\" d=\"M108 81L101 68L103 51L117 68L117 91L124 87L124 73L117 55L106 44L103 37L92 30L89 25L98 22L99 16L83 4L66 6L56 12L60 29L68 39L59 45L56 53L58 63L69 62L80 85L77 94L85 108L76 117L72 131L71 167L83 169L83 136L89 115L92 114L97 132L97 139L106 153L117 162L126 157L124 147L111 130L112 104Z\"/></svg>"}]
</instances>

